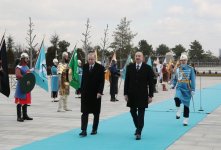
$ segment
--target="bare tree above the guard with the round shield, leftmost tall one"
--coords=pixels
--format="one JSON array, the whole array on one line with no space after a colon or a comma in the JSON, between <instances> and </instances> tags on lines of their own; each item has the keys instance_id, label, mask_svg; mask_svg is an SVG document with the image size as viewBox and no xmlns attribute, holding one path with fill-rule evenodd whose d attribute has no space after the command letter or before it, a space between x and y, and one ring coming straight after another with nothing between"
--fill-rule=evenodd
<instances>
[{"instance_id":1,"label":"bare tree above the guard with the round shield, leftmost tall one","mask_svg":"<svg viewBox=\"0 0 221 150\"><path fill-rule=\"evenodd\" d=\"M29 50L29 55L30 55L30 68L32 68L32 65L33 65L33 60L32 60L32 57L33 57L33 51L35 51L35 47L38 45L38 43L34 44L34 39L36 37L36 35L33 36L33 27L34 27L34 24L33 22L31 21L31 17L29 17L29 29L28 29L28 37L26 37L26 41L28 43L28 50Z\"/></svg>"}]
</instances>

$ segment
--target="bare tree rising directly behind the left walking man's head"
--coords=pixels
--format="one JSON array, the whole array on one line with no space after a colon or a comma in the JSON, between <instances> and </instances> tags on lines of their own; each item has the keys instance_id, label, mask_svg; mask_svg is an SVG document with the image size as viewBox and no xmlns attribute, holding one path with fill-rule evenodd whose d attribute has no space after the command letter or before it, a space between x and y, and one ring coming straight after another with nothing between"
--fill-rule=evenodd
<instances>
[{"instance_id":1,"label":"bare tree rising directly behind the left walking man's head","mask_svg":"<svg viewBox=\"0 0 221 150\"><path fill-rule=\"evenodd\" d=\"M89 18L87 19L87 23L85 24L85 26L86 26L86 31L85 33L82 33L82 35L84 36L84 40L81 41L83 42L83 51L86 54L86 60L87 60L87 54L89 52L89 48L91 45L91 42L89 42L89 38L91 37L89 31L89 29L91 28Z\"/></svg>"}]
</instances>

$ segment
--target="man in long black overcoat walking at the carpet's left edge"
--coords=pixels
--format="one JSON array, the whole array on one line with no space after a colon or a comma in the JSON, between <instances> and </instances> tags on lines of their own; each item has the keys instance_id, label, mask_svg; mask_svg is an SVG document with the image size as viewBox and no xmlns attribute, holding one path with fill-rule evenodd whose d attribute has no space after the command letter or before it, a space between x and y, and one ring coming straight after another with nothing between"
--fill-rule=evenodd
<instances>
[{"instance_id":1,"label":"man in long black overcoat walking at the carpet's left edge","mask_svg":"<svg viewBox=\"0 0 221 150\"><path fill-rule=\"evenodd\" d=\"M88 63L83 66L81 83L81 137L87 136L88 115L94 115L91 135L97 134L101 110L101 95L104 89L104 67L95 62L95 53L88 54Z\"/></svg>"}]
</instances>

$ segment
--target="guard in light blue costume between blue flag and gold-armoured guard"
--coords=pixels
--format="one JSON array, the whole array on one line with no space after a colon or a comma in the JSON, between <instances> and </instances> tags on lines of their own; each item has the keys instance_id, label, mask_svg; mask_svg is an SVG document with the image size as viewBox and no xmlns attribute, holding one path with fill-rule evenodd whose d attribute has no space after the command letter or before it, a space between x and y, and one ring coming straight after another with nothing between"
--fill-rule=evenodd
<instances>
[{"instance_id":1,"label":"guard in light blue costume between blue flag and gold-armoured guard","mask_svg":"<svg viewBox=\"0 0 221 150\"><path fill-rule=\"evenodd\" d=\"M55 98L58 97L59 78L58 78L58 60L53 59L54 65L51 67L51 97L54 99L52 102L58 102Z\"/></svg>"}]
</instances>

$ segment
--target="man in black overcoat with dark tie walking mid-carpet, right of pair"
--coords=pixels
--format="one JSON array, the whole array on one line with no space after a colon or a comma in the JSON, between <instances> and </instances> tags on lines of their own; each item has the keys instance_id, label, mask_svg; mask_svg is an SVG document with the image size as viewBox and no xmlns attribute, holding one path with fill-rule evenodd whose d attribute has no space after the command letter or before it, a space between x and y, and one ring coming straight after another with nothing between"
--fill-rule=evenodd
<instances>
[{"instance_id":1,"label":"man in black overcoat with dark tie walking mid-carpet, right of pair","mask_svg":"<svg viewBox=\"0 0 221 150\"><path fill-rule=\"evenodd\" d=\"M140 140L144 126L145 108L148 107L153 97L154 73L149 65L143 63L142 52L136 52L135 61L127 66L124 96L136 127L136 140Z\"/></svg>"}]
</instances>

